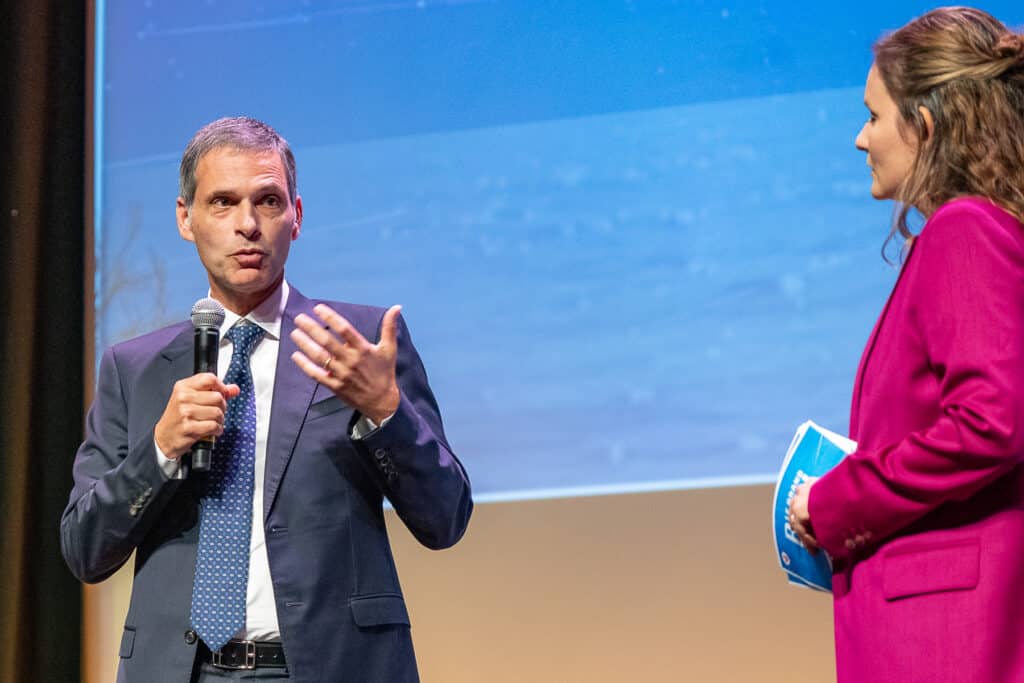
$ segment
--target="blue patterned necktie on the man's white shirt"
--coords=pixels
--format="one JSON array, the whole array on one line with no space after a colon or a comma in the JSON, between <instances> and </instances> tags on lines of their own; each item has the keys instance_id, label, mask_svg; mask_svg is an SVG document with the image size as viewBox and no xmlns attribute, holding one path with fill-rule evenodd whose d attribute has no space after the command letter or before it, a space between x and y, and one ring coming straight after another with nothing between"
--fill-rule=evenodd
<instances>
[{"instance_id":1,"label":"blue patterned necktie on the man's white shirt","mask_svg":"<svg viewBox=\"0 0 1024 683\"><path fill-rule=\"evenodd\" d=\"M211 650L246 625L249 538L256 460L256 394L249 354L263 329L240 321L227 333L233 350L224 384L242 390L227 401L200 511L191 623Z\"/></svg>"}]
</instances>

